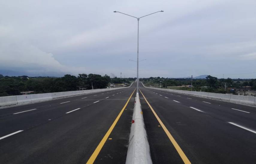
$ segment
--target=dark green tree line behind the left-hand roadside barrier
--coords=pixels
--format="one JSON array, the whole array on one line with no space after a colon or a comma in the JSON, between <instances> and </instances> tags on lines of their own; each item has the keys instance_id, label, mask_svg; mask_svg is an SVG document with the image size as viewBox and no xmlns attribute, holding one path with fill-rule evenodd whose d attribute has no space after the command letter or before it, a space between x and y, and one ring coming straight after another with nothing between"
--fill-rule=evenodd
<instances>
[{"instance_id":1,"label":"dark green tree line behind the left-hand roadside barrier","mask_svg":"<svg viewBox=\"0 0 256 164\"><path fill-rule=\"evenodd\" d=\"M28 77L3 76L0 74L0 96L21 95L20 92L34 91L37 93L75 91L79 88L102 89L109 83L130 83L133 78L110 78L108 75L78 74L63 77Z\"/></svg>"}]
</instances>

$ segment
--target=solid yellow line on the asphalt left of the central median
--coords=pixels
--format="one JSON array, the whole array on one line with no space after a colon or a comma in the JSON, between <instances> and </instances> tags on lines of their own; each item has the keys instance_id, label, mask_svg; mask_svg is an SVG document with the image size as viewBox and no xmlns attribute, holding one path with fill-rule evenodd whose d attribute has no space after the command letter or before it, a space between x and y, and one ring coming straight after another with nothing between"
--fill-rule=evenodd
<instances>
[{"instance_id":1,"label":"solid yellow line on the asphalt left of the central median","mask_svg":"<svg viewBox=\"0 0 256 164\"><path fill-rule=\"evenodd\" d=\"M134 89L135 91L135 89ZM132 92L131 96L133 95L134 91ZM87 161L87 164L93 163L96 159L96 157L98 156L99 152L101 151L102 147L104 146L107 138L109 137L110 133L112 132L112 130L114 129L114 127L116 126L117 121L119 120L119 118L121 117L122 113L124 112L130 98L127 100L127 102L125 103L125 106L123 107L123 109L121 110L121 112L119 113L119 115L116 117L116 120L114 120L113 124L110 126L110 128L108 129L107 133L104 135L104 137L102 138L101 142L99 143L99 145L97 146L97 148L94 150L93 154L91 155L91 157L89 158L89 160Z\"/></svg>"}]
</instances>

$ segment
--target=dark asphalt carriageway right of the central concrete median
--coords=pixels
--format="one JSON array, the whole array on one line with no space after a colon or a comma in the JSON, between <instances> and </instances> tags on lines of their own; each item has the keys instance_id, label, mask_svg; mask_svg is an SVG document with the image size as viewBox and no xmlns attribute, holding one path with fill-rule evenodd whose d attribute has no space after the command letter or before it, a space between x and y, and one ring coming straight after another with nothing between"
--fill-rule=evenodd
<instances>
[{"instance_id":1,"label":"dark asphalt carriageway right of the central concrete median","mask_svg":"<svg viewBox=\"0 0 256 164\"><path fill-rule=\"evenodd\" d=\"M183 163L182 157L191 163L256 162L255 107L163 92L141 84L140 90L153 163ZM184 154L178 153L149 105Z\"/></svg>"}]
</instances>

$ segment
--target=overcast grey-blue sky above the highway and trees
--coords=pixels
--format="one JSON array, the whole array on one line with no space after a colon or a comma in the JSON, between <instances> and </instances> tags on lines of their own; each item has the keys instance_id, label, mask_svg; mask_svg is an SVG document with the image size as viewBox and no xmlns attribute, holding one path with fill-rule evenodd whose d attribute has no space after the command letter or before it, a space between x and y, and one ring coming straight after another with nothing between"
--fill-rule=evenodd
<instances>
[{"instance_id":1,"label":"overcast grey-blue sky above the highway and trees","mask_svg":"<svg viewBox=\"0 0 256 164\"><path fill-rule=\"evenodd\" d=\"M137 20L113 11L164 10L140 19L140 77L256 78L255 8L255 0L0 0L0 74L136 77Z\"/></svg>"}]
</instances>

